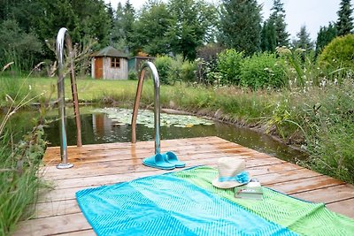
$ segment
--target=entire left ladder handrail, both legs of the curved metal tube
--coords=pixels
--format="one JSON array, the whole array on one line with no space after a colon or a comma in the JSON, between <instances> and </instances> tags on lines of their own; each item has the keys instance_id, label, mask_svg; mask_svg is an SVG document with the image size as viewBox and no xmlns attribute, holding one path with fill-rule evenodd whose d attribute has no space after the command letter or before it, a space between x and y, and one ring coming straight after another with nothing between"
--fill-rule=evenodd
<instances>
[{"instance_id":1,"label":"entire left ladder handrail, both legs of the curved metal tube","mask_svg":"<svg viewBox=\"0 0 354 236\"><path fill-rule=\"evenodd\" d=\"M74 76L74 65L73 65L73 46L70 35L67 34L67 29L65 27L60 28L57 35L56 43L56 53L58 60L58 105L59 105L59 133L60 133L60 158L61 163L57 165L58 169L68 169L72 168L73 164L67 161L67 139L66 139L66 117L65 117L65 89L64 89L64 42L66 42L66 47L69 50L70 58L70 78L72 83L72 94L74 102L74 114L76 118L76 128L77 128L77 146L81 147L81 121L80 121L80 111L79 102L76 88L76 80Z\"/></svg>"}]
</instances>

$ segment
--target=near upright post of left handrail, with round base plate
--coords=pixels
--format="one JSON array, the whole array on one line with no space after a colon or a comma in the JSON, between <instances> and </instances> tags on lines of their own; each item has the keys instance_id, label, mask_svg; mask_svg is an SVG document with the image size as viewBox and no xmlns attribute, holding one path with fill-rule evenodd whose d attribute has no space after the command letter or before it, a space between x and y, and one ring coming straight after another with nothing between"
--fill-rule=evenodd
<instances>
[{"instance_id":1,"label":"near upright post of left handrail, with round base plate","mask_svg":"<svg viewBox=\"0 0 354 236\"><path fill-rule=\"evenodd\" d=\"M65 117L65 89L64 89L64 41L70 40L67 29L62 27L57 36L57 59L58 59L58 104L59 104L59 134L60 134L60 157L61 163L57 165L58 169L68 169L73 164L67 162L67 140L66 140L66 117Z\"/></svg>"}]
</instances>

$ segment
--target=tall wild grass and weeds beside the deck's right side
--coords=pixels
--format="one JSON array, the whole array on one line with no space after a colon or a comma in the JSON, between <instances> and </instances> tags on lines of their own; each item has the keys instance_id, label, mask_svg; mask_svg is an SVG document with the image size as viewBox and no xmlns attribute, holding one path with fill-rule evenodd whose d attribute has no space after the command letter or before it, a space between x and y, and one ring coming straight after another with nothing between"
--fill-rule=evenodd
<instances>
[{"instance_id":1,"label":"tall wild grass and weeds beside the deck's right side","mask_svg":"<svg viewBox=\"0 0 354 236\"><path fill-rule=\"evenodd\" d=\"M297 122L306 131L304 162L311 169L354 183L354 84L327 84L296 95Z\"/></svg>"}]
</instances>

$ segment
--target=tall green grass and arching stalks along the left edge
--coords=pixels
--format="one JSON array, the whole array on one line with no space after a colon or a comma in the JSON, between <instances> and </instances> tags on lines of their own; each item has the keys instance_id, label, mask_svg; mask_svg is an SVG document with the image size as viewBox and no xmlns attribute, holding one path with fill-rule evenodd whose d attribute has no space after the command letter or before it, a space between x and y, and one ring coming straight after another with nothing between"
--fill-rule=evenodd
<instances>
[{"instance_id":1,"label":"tall green grass and arching stalks along the left edge","mask_svg":"<svg viewBox=\"0 0 354 236\"><path fill-rule=\"evenodd\" d=\"M35 202L41 186L36 174L45 142L42 139L42 125L38 124L22 141L14 143L12 132L6 125L13 114L41 94L32 97L23 84L6 84L6 79L1 81L0 86L8 87L3 90L7 111L0 119L0 235L9 235L20 219L31 216L27 207Z\"/></svg>"}]
</instances>

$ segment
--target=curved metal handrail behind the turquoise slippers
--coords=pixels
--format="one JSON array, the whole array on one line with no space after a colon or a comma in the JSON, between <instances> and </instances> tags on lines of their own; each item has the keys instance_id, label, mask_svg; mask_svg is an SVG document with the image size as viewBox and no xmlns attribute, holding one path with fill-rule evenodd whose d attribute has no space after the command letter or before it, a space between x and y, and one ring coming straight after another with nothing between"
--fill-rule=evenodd
<instances>
[{"instance_id":1,"label":"curved metal handrail behind the turquoise slippers","mask_svg":"<svg viewBox=\"0 0 354 236\"><path fill-rule=\"evenodd\" d=\"M136 89L136 95L135 95L135 104L134 104L134 110L133 110L133 116L132 116L132 142L136 142L136 118L138 115L138 110L139 110L139 103L140 103L140 98L142 96L142 85L143 85L143 80L145 78L145 70L150 68L150 71L152 72L152 77L154 80L154 126L155 126L155 154L160 153L160 81L158 78L158 70L156 69L156 66L152 62L145 62L142 65L142 69L140 71L140 76L139 76L139 81L138 81L138 88Z\"/></svg>"}]
</instances>

